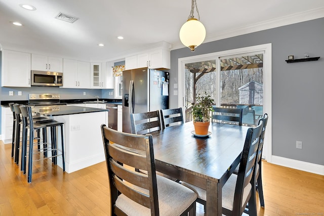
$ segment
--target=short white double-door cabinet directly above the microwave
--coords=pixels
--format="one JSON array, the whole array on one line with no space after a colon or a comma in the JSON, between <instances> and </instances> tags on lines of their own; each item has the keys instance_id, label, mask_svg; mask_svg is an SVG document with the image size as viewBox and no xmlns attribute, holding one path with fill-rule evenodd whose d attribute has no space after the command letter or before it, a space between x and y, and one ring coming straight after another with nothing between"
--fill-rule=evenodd
<instances>
[{"instance_id":1,"label":"short white double-door cabinet directly above the microwave","mask_svg":"<svg viewBox=\"0 0 324 216\"><path fill-rule=\"evenodd\" d=\"M63 58L31 54L31 70L63 72Z\"/></svg>"}]
</instances>

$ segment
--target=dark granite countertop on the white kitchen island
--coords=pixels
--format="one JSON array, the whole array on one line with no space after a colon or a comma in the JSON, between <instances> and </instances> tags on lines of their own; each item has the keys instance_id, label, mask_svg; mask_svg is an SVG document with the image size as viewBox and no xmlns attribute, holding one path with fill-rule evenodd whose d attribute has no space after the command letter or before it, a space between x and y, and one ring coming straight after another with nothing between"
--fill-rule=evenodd
<instances>
[{"instance_id":1,"label":"dark granite countertop on the white kitchen island","mask_svg":"<svg viewBox=\"0 0 324 216\"><path fill-rule=\"evenodd\" d=\"M107 109L80 107L80 106L48 106L48 107L34 107L32 110L35 113L45 116L58 116L58 115L73 115L91 112L107 112Z\"/></svg>"}]
</instances>

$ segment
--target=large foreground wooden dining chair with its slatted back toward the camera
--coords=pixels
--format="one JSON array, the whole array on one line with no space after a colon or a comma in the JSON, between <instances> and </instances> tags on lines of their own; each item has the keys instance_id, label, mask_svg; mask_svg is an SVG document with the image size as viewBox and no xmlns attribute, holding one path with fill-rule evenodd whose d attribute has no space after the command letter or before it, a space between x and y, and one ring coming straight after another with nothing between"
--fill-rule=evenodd
<instances>
[{"instance_id":1,"label":"large foreground wooden dining chair with its slatted back toward the camera","mask_svg":"<svg viewBox=\"0 0 324 216\"><path fill-rule=\"evenodd\" d=\"M156 175L152 135L101 125L110 186L110 215L195 215L197 195ZM135 168L145 173L134 171ZM107 212L108 213L108 212Z\"/></svg>"}]
</instances>

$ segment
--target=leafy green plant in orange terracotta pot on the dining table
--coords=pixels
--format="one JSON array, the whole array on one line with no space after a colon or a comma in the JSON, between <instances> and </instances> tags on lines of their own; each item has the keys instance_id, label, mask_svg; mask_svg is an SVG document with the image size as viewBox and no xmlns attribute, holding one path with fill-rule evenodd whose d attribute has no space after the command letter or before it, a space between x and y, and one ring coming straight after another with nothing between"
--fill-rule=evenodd
<instances>
[{"instance_id":1,"label":"leafy green plant in orange terracotta pot on the dining table","mask_svg":"<svg viewBox=\"0 0 324 216\"><path fill-rule=\"evenodd\" d=\"M196 97L196 102L192 107L192 117L193 125L195 129L195 134L197 135L207 135L208 127L210 124L211 111L213 110L212 105L214 104L214 99L210 95L198 96Z\"/></svg>"}]
</instances>

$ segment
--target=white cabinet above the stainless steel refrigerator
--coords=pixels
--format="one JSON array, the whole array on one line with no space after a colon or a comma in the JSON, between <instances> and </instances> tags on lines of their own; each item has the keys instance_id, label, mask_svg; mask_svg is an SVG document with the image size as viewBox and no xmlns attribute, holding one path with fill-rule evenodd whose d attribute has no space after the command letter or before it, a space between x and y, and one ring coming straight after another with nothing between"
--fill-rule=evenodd
<instances>
[{"instance_id":1,"label":"white cabinet above the stainless steel refrigerator","mask_svg":"<svg viewBox=\"0 0 324 216\"><path fill-rule=\"evenodd\" d=\"M142 67L170 69L170 51L160 49L125 58L127 70Z\"/></svg>"}]
</instances>

